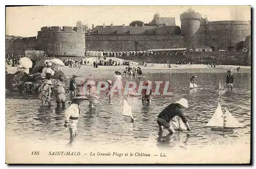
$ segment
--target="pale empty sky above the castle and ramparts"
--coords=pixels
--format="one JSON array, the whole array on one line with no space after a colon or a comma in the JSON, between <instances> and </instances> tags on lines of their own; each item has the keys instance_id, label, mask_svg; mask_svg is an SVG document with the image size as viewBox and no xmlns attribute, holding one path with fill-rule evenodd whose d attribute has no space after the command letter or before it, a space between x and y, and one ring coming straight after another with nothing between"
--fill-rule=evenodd
<instances>
[{"instance_id":1,"label":"pale empty sky above the castle and ramparts","mask_svg":"<svg viewBox=\"0 0 256 169\"><path fill-rule=\"evenodd\" d=\"M192 8L209 21L251 20L250 6L34 6L7 7L6 34L37 36L46 26L76 26L77 20L90 28L103 25L129 25L133 20L149 23L155 13L175 17L180 26L180 14Z\"/></svg>"}]
</instances>

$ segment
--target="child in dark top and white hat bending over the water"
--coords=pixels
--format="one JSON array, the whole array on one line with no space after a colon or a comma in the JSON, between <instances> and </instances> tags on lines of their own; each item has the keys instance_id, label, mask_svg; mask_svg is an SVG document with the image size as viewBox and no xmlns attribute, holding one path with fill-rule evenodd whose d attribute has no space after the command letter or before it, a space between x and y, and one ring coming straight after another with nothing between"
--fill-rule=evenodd
<instances>
[{"instance_id":1,"label":"child in dark top and white hat bending over the water","mask_svg":"<svg viewBox=\"0 0 256 169\"><path fill-rule=\"evenodd\" d=\"M191 130L183 112L181 111L182 108L188 108L187 100L184 98L181 98L175 103L169 104L167 108L158 115L157 123L159 125L159 133L162 133L163 127L165 127L169 133L175 133L173 126L170 124L170 120L172 120L176 115L180 116L182 121L186 124L187 131Z\"/></svg>"}]
</instances>

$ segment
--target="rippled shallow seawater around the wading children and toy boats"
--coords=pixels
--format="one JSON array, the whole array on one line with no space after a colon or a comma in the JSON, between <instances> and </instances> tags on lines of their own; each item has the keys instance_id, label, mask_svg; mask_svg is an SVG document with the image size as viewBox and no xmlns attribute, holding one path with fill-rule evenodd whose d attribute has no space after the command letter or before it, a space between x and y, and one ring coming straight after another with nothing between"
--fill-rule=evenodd
<instances>
[{"instance_id":1,"label":"rippled shallow seawater around the wading children and toy boats","mask_svg":"<svg viewBox=\"0 0 256 169\"><path fill-rule=\"evenodd\" d=\"M108 80L104 71L95 74L95 80ZM145 77L124 78L123 80L169 81L168 91L172 95L153 96L152 105L142 107L141 97L130 97L130 104L134 114L134 124L129 118L122 116L123 98L115 95L113 105L108 104L108 97L101 93L100 102L93 110L89 110L88 102L81 106L81 117L78 122L77 141L89 141L108 145L118 143L122 145L150 145L160 149L186 149L189 145L207 146L209 144L224 144L236 139L250 142L250 107L251 83L250 73L234 74L234 89L219 95L219 80L225 81L225 73L197 73L196 83L198 90L189 91L189 77L193 73L145 73ZM103 78L102 78L103 77ZM225 86L224 86L225 87ZM160 93L163 90L160 88ZM69 95L67 95L69 97ZM164 131L164 136L158 135L158 114L169 103L181 97L188 100L189 108L184 111L191 131L180 131L170 136ZM244 125L242 129L232 132L212 131L204 125L214 114L218 101L225 104L229 112ZM55 102L55 100L53 101ZM37 96L18 94L6 95L6 132L11 135L35 138L44 141L60 141L66 144L69 140L69 131L64 128L64 115L61 110L39 108Z\"/></svg>"}]
</instances>

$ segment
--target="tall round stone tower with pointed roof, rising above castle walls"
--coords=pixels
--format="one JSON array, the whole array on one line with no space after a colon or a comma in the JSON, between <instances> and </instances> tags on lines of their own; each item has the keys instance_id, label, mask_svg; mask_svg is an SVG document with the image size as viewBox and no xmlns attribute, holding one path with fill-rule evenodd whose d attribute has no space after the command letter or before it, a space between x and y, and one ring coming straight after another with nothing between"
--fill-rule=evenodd
<instances>
[{"instance_id":1,"label":"tall round stone tower with pointed roof, rising above castle walls","mask_svg":"<svg viewBox=\"0 0 256 169\"><path fill-rule=\"evenodd\" d=\"M201 14L189 8L180 15L181 34L185 38L192 37L200 27Z\"/></svg>"}]
</instances>

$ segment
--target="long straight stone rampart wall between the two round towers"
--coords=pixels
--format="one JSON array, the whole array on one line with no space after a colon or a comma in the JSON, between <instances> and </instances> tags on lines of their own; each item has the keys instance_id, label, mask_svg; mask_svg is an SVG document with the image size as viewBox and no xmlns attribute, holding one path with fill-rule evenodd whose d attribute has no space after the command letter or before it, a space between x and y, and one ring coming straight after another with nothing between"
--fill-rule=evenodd
<instances>
[{"instance_id":1,"label":"long straight stone rampart wall between the two round towers","mask_svg":"<svg viewBox=\"0 0 256 169\"><path fill-rule=\"evenodd\" d=\"M144 51L184 47L183 37L179 35L94 34L86 36L86 40L87 51Z\"/></svg>"}]
</instances>

